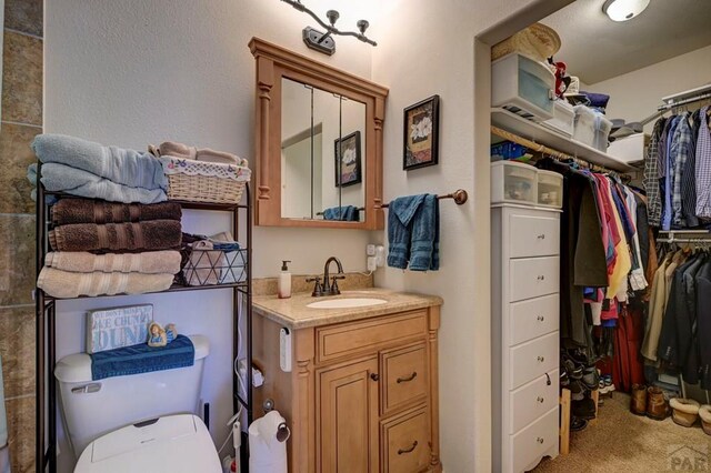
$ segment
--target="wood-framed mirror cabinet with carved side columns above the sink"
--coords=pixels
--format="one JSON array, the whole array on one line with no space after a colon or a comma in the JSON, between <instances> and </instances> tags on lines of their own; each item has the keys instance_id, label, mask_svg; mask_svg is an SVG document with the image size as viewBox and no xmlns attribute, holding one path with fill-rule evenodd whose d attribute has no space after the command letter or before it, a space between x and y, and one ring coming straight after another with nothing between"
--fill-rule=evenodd
<instances>
[{"instance_id":1,"label":"wood-framed mirror cabinet with carved side columns above the sink","mask_svg":"<svg viewBox=\"0 0 711 473\"><path fill-rule=\"evenodd\" d=\"M381 230L388 89L252 38L254 224Z\"/></svg>"}]
</instances>

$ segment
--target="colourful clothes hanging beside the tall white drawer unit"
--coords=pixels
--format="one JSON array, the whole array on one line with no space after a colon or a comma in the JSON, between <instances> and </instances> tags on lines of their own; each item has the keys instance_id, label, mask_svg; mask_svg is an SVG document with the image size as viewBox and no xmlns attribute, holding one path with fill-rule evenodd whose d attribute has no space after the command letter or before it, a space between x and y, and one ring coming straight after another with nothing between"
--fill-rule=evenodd
<instances>
[{"instance_id":1,"label":"colourful clothes hanging beside the tall white drawer unit","mask_svg":"<svg viewBox=\"0 0 711 473\"><path fill-rule=\"evenodd\" d=\"M654 245L650 245L645 198L613 173L595 173L551 158L537 167L563 174L563 344L584 348L597 358L593 325L615 326L628 292L637 292L641 300L648 288L645 270Z\"/></svg>"}]
</instances>

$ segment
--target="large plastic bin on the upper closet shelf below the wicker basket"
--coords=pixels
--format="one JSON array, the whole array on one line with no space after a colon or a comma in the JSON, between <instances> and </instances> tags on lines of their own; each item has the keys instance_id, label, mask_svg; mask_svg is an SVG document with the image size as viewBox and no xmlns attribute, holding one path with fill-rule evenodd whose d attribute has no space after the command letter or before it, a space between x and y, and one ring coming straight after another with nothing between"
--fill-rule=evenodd
<instances>
[{"instance_id":1,"label":"large plastic bin on the upper closet shelf below the wicker basket","mask_svg":"<svg viewBox=\"0 0 711 473\"><path fill-rule=\"evenodd\" d=\"M555 77L542 64L519 53L491 63L491 104L533 121L553 118Z\"/></svg>"}]
</instances>

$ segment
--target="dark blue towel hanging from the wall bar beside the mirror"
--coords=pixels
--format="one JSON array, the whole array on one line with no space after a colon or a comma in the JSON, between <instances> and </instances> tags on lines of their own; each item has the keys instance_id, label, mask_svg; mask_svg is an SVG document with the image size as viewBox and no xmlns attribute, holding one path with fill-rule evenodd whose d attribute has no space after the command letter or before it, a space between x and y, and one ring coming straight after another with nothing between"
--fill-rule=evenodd
<instances>
[{"instance_id":1,"label":"dark blue towel hanging from the wall bar beside the mirror","mask_svg":"<svg viewBox=\"0 0 711 473\"><path fill-rule=\"evenodd\" d=\"M388 205L388 265L411 271L440 268L440 207L434 194L408 195Z\"/></svg>"}]
</instances>

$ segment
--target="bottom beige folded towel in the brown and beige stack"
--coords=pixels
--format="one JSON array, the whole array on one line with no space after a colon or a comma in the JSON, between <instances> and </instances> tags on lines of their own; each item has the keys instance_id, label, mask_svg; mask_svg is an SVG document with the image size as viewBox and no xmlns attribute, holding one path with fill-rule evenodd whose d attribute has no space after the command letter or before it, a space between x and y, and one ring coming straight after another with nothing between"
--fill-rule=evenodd
<instances>
[{"instance_id":1,"label":"bottom beige folded towel in the brown and beige stack","mask_svg":"<svg viewBox=\"0 0 711 473\"><path fill-rule=\"evenodd\" d=\"M42 268L37 278L37 286L54 298L78 298L80 295L142 294L164 291L173 282L172 274L142 273L73 273Z\"/></svg>"}]
</instances>

